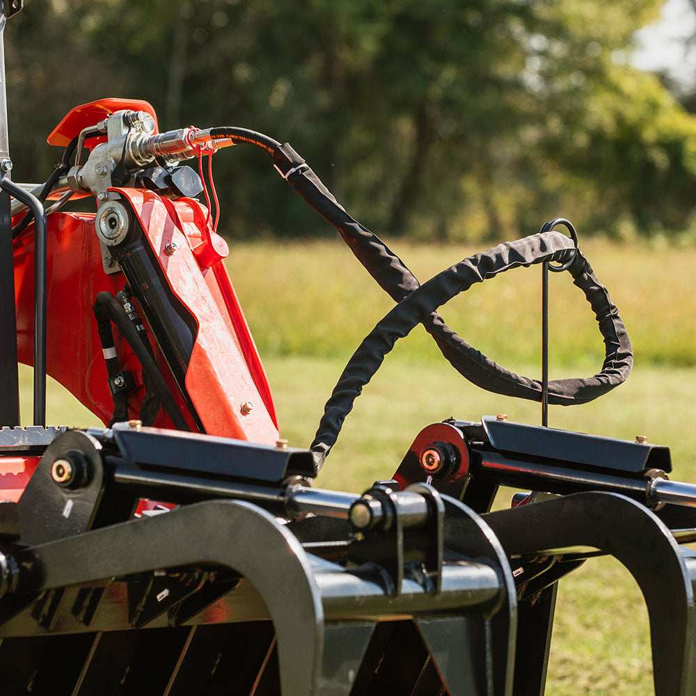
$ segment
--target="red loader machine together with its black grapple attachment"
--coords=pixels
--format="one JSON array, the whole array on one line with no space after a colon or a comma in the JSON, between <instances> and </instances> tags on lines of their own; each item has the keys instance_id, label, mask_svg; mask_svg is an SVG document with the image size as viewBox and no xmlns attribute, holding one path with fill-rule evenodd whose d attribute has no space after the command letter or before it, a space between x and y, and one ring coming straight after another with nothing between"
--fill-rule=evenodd
<instances>
[{"instance_id":1,"label":"red loader machine together with its black grapple attachment","mask_svg":"<svg viewBox=\"0 0 696 696\"><path fill-rule=\"evenodd\" d=\"M21 6L1 4L0 32ZM234 128L160 134L149 104L124 100L79 106L49 137L79 150L54 189L100 207L47 217L10 181L1 56L0 65L3 694L537 695L557 583L598 553L617 557L644 594L656 694L696 693L696 555L679 545L696 539L696 514L677 505L694 505L696 493L666 479L669 450L449 420L418 434L394 480L362 496L314 489L345 412L331 416L338 427L322 421L335 432L310 450L280 439L226 242L173 164L246 139L270 148L342 235L367 248L371 233L288 145ZM13 235L26 207L33 221ZM535 237L551 246L544 263L587 275L594 292L577 245L548 225ZM388 315L395 338L414 321L437 337L428 293L442 288L419 289L379 245L399 276L381 278L402 300ZM535 258L512 244L503 252L519 252L521 265L541 258L538 248ZM448 296L461 291L450 285ZM616 337L615 372L626 372L630 345L616 328L602 331ZM455 344L438 343L456 367ZM384 352L372 346L373 362ZM608 345L608 363L613 355ZM26 429L18 361L35 367ZM106 427L46 428L47 372ZM351 388L359 393L368 373ZM501 485L544 493L491 512Z\"/></svg>"}]
</instances>

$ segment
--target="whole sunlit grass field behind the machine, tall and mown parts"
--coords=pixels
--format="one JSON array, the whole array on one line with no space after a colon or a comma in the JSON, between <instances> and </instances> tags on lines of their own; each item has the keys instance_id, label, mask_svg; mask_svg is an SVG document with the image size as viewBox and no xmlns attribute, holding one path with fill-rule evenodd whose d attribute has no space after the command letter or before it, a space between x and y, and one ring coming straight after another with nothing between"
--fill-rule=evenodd
<instances>
[{"instance_id":1,"label":"whole sunlit grass field behind the machine, tall and mown parts","mask_svg":"<svg viewBox=\"0 0 696 696\"><path fill-rule=\"evenodd\" d=\"M583 244L631 335L635 368L601 400L552 407L553 427L670 445L673 478L696 482L696 293L693 276L669 271L696 262L696 249ZM472 249L404 245L422 279ZM283 436L306 446L352 351L392 306L341 242L244 244L230 274L267 365ZM567 274L552 276L551 377L599 370L603 344L582 294ZM539 270L517 270L473 288L443 311L466 340L522 374L539 375ZM539 406L482 392L439 356L422 330L400 341L347 418L317 479L319 487L361 491L390 477L422 427L455 416L507 413L539 422ZM23 372L29 393L29 372ZM49 393L49 422L95 423L61 390ZM31 402L23 400L24 422ZM511 491L498 505L509 505ZM647 612L637 585L610 559L590 560L560 584L546 693L653 693Z\"/></svg>"}]
</instances>

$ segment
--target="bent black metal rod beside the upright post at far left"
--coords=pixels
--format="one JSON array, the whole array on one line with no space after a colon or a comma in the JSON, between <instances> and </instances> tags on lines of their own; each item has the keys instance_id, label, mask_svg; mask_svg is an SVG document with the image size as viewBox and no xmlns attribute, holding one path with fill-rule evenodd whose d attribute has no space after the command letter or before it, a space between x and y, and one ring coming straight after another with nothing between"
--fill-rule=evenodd
<instances>
[{"instance_id":1,"label":"bent black metal rod beside the upright post at far left","mask_svg":"<svg viewBox=\"0 0 696 696\"><path fill-rule=\"evenodd\" d=\"M34 425L46 425L46 213L40 200L3 178L0 187L19 199L34 214Z\"/></svg>"}]
</instances>

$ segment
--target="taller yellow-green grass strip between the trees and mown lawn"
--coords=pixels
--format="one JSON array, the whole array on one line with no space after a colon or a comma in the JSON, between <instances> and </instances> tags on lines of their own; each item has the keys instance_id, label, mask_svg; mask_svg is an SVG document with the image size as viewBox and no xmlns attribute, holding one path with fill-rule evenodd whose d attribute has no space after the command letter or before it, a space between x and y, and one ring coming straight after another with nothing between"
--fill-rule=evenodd
<instances>
[{"instance_id":1,"label":"taller yellow-green grass strip between the trees and mown lawn","mask_svg":"<svg viewBox=\"0 0 696 696\"><path fill-rule=\"evenodd\" d=\"M480 248L394 244L420 280ZM696 248L620 246L590 239L583 251L606 285L645 365L696 365ZM674 259L679 269L674 268ZM228 268L264 356L347 358L393 306L340 239L315 244L235 244ZM471 345L506 367L538 360L541 271L515 269L472 287L442 314ZM569 274L551 274L551 355L562 370L599 370L603 342ZM438 362L425 331L395 353ZM561 375L562 376L562 375Z\"/></svg>"}]
</instances>

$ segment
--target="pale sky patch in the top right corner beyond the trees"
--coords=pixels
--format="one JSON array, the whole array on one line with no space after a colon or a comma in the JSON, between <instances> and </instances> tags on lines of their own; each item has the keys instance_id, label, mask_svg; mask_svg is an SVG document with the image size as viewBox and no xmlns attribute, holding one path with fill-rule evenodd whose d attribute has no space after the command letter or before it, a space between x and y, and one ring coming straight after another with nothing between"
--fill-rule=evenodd
<instances>
[{"instance_id":1,"label":"pale sky patch in the top right corner beyond the trees","mask_svg":"<svg viewBox=\"0 0 696 696\"><path fill-rule=\"evenodd\" d=\"M631 62L642 70L667 70L685 91L696 87L696 41L690 50L688 37L696 35L696 12L689 0L667 0L661 18L636 34L637 49Z\"/></svg>"}]
</instances>

